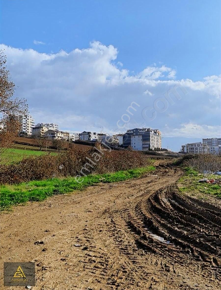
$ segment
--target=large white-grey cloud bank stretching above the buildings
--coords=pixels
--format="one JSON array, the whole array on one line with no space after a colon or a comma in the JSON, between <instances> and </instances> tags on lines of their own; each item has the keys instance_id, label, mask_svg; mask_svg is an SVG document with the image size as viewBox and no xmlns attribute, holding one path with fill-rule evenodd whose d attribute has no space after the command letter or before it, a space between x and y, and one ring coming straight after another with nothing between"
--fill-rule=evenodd
<instances>
[{"instance_id":1,"label":"large white-grey cloud bank stretching above the buildings","mask_svg":"<svg viewBox=\"0 0 221 290\"><path fill-rule=\"evenodd\" d=\"M5 49L12 79L19 86L16 95L28 100L37 123L57 122L61 129L72 131L99 131L102 125L107 132L122 132L129 126L150 126L167 136L219 135L218 76L207 76L202 81L176 80L176 70L164 65L147 66L134 74L116 61L118 50L114 46L98 41L69 53L61 50L46 54L6 45L1 48ZM176 85L185 88L187 94L178 88L181 99L170 93L174 104L170 101L165 112L158 110L152 121L142 116L144 110L156 106L157 98L165 99L165 93ZM160 109L164 106L162 99L157 103ZM131 102L139 107L131 111L127 127L118 128L116 122L120 120L119 124L124 125L121 116ZM195 127L191 124L198 129L192 129Z\"/></svg>"}]
</instances>

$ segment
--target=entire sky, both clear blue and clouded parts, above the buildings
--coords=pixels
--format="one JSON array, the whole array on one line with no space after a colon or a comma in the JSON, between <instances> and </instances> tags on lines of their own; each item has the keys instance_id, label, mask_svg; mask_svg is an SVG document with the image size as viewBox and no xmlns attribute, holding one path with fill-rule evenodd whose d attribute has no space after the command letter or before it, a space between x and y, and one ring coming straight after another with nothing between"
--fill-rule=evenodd
<instances>
[{"instance_id":1,"label":"entire sky, both clear blue and clouded parts, above the buildings","mask_svg":"<svg viewBox=\"0 0 221 290\"><path fill-rule=\"evenodd\" d=\"M220 137L219 0L0 5L1 48L36 122Z\"/></svg>"}]
</instances>

